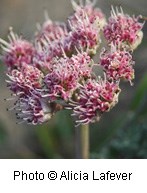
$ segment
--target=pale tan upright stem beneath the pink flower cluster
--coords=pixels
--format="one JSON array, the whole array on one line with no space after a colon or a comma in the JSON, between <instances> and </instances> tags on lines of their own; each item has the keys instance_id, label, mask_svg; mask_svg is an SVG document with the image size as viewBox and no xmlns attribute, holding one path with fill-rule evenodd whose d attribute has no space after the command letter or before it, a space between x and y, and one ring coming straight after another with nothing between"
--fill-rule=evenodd
<instances>
[{"instance_id":1,"label":"pale tan upright stem beneath the pink flower cluster","mask_svg":"<svg viewBox=\"0 0 147 193\"><path fill-rule=\"evenodd\" d=\"M75 149L77 159L89 158L89 124L75 128Z\"/></svg>"}]
</instances>

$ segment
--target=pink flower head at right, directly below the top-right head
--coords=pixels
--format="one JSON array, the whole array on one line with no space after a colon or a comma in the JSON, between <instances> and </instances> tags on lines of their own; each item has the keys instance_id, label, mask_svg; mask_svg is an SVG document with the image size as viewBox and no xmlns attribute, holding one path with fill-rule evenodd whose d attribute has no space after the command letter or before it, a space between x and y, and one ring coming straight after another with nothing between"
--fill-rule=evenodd
<instances>
[{"instance_id":1,"label":"pink flower head at right, directly below the top-right head","mask_svg":"<svg viewBox=\"0 0 147 193\"><path fill-rule=\"evenodd\" d=\"M110 52L104 50L101 53L100 65L111 81L123 79L131 82L134 79L132 55L126 50L117 50L114 45L111 45Z\"/></svg>"}]
</instances>

